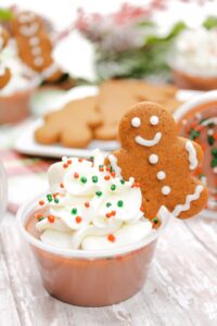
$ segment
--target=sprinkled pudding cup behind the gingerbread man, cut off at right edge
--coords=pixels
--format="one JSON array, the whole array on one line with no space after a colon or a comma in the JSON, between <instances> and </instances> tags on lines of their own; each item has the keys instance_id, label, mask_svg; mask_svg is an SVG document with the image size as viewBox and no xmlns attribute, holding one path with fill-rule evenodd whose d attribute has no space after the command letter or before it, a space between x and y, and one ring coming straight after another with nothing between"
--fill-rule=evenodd
<instances>
[{"instance_id":1,"label":"sprinkled pudding cup behind the gingerbread man, cut off at right edge","mask_svg":"<svg viewBox=\"0 0 217 326\"><path fill-rule=\"evenodd\" d=\"M217 217L217 90L194 97L175 112L179 134L197 142L204 151L203 164L193 172L208 188L202 215Z\"/></svg>"}]
</instances>

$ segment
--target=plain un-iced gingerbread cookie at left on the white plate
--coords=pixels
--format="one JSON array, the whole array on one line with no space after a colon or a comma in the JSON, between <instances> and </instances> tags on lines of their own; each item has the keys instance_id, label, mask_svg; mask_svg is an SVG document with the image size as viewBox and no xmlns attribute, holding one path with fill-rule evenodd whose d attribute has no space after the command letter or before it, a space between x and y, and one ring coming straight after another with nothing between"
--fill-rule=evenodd
<instances>
[{"instance_id":1,"label":"plain un-iced gingerbread cookie at left on the white plate","mask_svg":"<svg viewBox=\"0 0 217 326\"><path fill-rule=\"evenodd\" d=\"M61 142L65 147L84 148L93 138L93 128L102 123L95 110L97 97L88 97L67 103L62 110L44 117L35 139L43 145Z\"/></svg>"}]
</instances>

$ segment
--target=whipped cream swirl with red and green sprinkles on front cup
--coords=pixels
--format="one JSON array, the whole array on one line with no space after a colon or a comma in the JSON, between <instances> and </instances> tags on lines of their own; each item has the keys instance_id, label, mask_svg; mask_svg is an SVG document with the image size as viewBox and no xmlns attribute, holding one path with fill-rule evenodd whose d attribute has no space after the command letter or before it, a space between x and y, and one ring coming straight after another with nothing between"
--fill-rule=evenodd
<instances>
[{"instance_id":1,"label":"whipped cream swirl with red and green sprinkles on front cup","mask_svg":"<svg viewBox=\"0 0 217 326\"><path fill-rule=\"evenodd\" d=\"M124 180L103 162L94 151L92 161L63 158L51 165L50 193L39 201L44 213L36 224L43 242L95 251L131 244L154 231L133 178Z\"/></svg>"}]
</instances>

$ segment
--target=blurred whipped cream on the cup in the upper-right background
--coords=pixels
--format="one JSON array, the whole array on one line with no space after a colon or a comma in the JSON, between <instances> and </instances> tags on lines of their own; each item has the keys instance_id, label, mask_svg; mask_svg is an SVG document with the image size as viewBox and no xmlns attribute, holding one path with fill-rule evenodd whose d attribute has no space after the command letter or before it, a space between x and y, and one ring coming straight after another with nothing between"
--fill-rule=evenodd
<instances>
[{"instance_id":1,"label":"blurred whipped cream on the cup in the upper-right background","mask_svg":"<svg viewBox=\"0 0 217 326\"><path fill-rule=\"evenodd\" d=\"M188 29L176 39L171 67L194 76L217 77L217 29Z\"/></svg>"}]
</instances>

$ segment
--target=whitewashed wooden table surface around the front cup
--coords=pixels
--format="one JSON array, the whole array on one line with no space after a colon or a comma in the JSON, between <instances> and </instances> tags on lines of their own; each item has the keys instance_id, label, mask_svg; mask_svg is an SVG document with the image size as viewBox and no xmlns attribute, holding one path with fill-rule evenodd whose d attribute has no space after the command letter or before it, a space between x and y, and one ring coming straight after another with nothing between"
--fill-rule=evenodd
<instances>
[{"instance_id":1,"label":"whitewashed wooden table surface around the front cup","mask_svg":"<svg viewBox=\"0 0 217 326\"><path fill-rule=\"evenodd\" d=\"M158 241L149 279L133 298L98 309L50 297L15 217L0 227L1 326L217 325L217 220L173 221Z\"/></svg>"}]
</instances>

